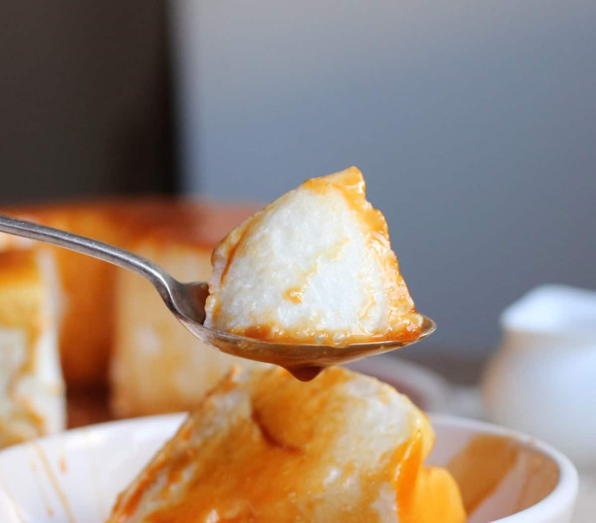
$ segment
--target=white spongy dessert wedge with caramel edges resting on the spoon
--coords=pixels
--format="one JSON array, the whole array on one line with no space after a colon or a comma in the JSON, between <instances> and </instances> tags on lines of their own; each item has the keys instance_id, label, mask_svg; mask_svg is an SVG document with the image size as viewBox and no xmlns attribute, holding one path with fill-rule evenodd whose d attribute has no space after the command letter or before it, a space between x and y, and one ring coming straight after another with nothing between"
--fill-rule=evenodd
<instances>
[{"instance_id":1,"label":"white spongy dessert wedge with caramel edges resting on the spoon","mask_svg":"<svg viewBox=\"0 0 596 523\"><path fill-rule=\"evenodd\" d=\"M213 252L205 325L266 341L411 340L423 318L361 172L307 180Z\"/></svg>"}]
</instances>

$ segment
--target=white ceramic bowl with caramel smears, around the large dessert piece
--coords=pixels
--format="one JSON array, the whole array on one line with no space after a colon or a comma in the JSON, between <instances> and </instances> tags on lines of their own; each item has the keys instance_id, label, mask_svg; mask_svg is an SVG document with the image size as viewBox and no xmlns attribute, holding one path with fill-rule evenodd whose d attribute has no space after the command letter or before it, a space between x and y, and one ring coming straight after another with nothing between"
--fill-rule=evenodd
<instances>
[{"instance_id":1,"label":"white ceramic bowl with caramel smears, around the large dessert piece","mask_svg":"<svg viewBox=\"0 0 596 523\"><path fill-rule=\"evenodd\" d=\"M119 491L174 434L183 417L155 416L95 425L0 452L0 522L103 522ZM494 425L449 416L435 416L432 421L437 444L431 461L437 464L447 463L478 434L511 436ZM555 481L547 497L499 521L568 523L577 491L573 465L547 445L519 435L514 435L513 441L523 452L470 522L494 521L514 512L523 497L520 493L535 491L544 483L541 475L554 471Z\"/></svg>"}]
</instances>

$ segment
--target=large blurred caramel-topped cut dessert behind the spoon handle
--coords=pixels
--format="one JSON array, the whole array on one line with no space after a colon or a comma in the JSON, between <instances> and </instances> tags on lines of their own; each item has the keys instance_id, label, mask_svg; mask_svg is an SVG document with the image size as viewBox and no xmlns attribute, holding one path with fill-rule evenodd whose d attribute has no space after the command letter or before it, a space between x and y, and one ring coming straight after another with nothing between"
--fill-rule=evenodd
<instances>
[{"instance_id":1,"label":"large blurred caramel-topped cut dessert behind the spoon handle","mask_svg":"<svg viewBox=\"0 0 596 523\"><path fill-rule=\"evenodd\" d=\"M178 278L206 281L213 246L257 208L145 197L1 212L119 245L163 264ZM188 409L235 360L190 335L139 276L17 236L0 234L0 248L21 252L24 259L54 260L62 289L60 318L56 314L54 322L60 320L66 384L79 391L108 387L111 367L112 403L119 416ZM0 278L4 272L0 266ZM6 276L10 288L13 278ZM45 281L39 285L46 288ZM13 350L20 349L14 345Z\"/></svg>"}]
</instances>

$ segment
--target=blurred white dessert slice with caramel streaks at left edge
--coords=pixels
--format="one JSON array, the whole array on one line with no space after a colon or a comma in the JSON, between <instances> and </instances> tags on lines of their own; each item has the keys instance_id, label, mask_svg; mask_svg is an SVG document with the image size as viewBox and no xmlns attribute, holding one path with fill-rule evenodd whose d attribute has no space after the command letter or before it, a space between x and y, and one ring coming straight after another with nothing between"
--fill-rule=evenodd
<instances>
[{"instance_id":1,"label":"blurred white dessert slice with caramel streaks at left edge","mask_svg":"<svg viewBox=\"0 0 596 523\"><path fill-rule=\"evenodd\" d=\"M48 253L0 253L0 447L64 429L57 284Z\"/></svg>"}]
</instances>

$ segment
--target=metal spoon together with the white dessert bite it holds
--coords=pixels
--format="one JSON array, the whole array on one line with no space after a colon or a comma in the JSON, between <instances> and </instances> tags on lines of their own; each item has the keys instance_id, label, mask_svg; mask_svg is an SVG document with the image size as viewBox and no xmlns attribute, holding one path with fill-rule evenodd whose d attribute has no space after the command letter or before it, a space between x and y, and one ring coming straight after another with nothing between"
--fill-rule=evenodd
<instances>
[{"instance_id":1,"label":"metal spoon together with the white dessert bite it holds","mask_svg":"<svg viewBox=\"0 0 596 523\"><path fill-rule=\"evenodd\" d=\"M176 281L129 251L36 223L0 216L0 231L133 270L204 342L303 380L435 329L415 310L356 167L306 180L229 232L213 252L209 284Z\"/></svg>"}]
</instances>

